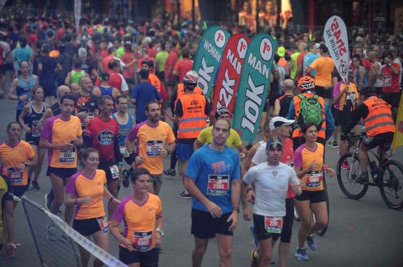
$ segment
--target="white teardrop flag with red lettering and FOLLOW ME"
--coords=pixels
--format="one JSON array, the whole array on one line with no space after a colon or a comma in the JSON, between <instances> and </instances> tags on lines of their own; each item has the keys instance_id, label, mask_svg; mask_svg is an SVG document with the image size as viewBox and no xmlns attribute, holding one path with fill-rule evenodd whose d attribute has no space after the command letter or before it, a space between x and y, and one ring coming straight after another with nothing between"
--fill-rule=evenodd
<instances>
[{"instance_id":1,"label":"white teardrop flag with red lettering and FOLLOW ME","mask_svg":"<svg viewBox=\"0 0 403 267\"><path fill-rule=\"evenodd\" d=\"M349 72L349 39L346 24L339 16L332 16L327 20L323 30L324 42L329 50L334 65L342 76L343 82L348 84Z\"/></svg>"}]
</instances>

